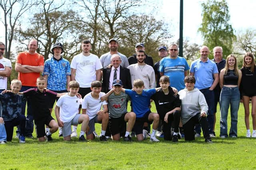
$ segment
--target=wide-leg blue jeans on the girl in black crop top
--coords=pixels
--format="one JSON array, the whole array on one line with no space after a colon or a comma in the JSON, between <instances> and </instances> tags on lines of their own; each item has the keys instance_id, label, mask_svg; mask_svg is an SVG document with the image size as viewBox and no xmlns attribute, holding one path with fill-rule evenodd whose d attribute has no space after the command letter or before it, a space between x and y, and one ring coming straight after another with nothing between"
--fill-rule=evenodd
<instances>
[{"instance_id":1,"label":"wide-leg blue jeans on the girl in black crop top","mask_svg":"<svg viewBox=\"0 0 256 170\"><path fill-rule=\"evenodd\" d=\"M220 92L220 136L228 137L228 108L230 106L231 127L229 136L237 137L237 117L240 104L238 87L223 87Z\"/></svg>"}]
</instances>

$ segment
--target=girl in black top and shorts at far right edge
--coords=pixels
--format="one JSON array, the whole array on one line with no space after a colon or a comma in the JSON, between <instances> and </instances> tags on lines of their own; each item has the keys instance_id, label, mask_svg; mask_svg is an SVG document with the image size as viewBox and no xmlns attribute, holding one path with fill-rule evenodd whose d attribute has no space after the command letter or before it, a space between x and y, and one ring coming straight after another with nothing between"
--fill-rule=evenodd
<instances>
[{"instance_id":1,"label":"girl in black top and shorts at far right edge","mask_svg":"<svg viewBox=\"0 0 256 170\"><path fill-rule=\"evenodd\" d=\"M251 137L250 132L250 98L252 100L252 137L256 137L256 64L252 53L244 55L242 80L240 92L244 103L244 120L246 126L246 137Z\"/></svg>"}]
</instances>

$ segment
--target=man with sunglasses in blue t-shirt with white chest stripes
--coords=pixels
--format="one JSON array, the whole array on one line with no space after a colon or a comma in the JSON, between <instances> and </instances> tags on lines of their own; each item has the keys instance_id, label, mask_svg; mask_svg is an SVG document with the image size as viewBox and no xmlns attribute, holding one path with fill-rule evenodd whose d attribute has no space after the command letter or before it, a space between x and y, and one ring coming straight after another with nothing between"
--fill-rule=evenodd
<instances>
[{"instance_id":1,"label":"man with sunglasses in blue t-shirt with white chest stripes","mask_svg":"<svg viewBox=\"0 0 256 170\"><path fill-rule=\"evenodd\" d=\"M178 45L173 43L169 47L170 57L165 57L160 61L160 75L166 75L170 78L170 86L178 91L185 88L184 78L189 70L185 58L178 56Z\"/></svg>"}]
</instances>

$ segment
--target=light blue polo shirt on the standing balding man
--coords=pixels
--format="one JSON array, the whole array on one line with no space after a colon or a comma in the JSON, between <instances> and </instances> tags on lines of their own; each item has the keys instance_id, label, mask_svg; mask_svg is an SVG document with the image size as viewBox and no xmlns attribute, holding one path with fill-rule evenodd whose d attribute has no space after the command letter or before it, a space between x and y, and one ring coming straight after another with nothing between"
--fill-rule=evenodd
<instances>
[{"instance_id":1,"label":"light blue polo shirt on the standing balding man","mask_svg":"<svg viewBox=\"0 0 256 170\"><path fill-rule=\"evenodd\" d=\"M210 59L202 62L199 58L191 63L190 72L193 72L196 78L195 88L201 90L212 86L214 82L213 74L218 73L218 68Z\"/></svg>"}]
</instances>

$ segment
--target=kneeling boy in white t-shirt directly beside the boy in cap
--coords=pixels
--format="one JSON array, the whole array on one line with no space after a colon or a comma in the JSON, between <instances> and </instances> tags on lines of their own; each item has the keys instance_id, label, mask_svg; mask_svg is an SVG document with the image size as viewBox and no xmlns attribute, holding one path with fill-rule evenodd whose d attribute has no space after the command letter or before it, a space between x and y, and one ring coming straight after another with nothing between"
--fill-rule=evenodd
<instances>
[{"instance_id":1,"label":"kneeling boy in white t-shirt directly beside the boy in cap","mask_svg":"<svg viewBox=\"0 0 256 170\"><path fill-rule=\"evenodd\" d=\"M105 137L106 128L108 125L108 104L106 101L101 101L100 98L105 95L105 93L100 92L102 84L99 81L93 81L91 83L92 92L84 96L82 102L82 113L89 116L89 131L86 133L86 139L93 140L93 131L95 131L94 124L101 123L101 134L100 141L107 141ZM103 110L101 109L103 107Z\"/></svg>"}]
</instances>

